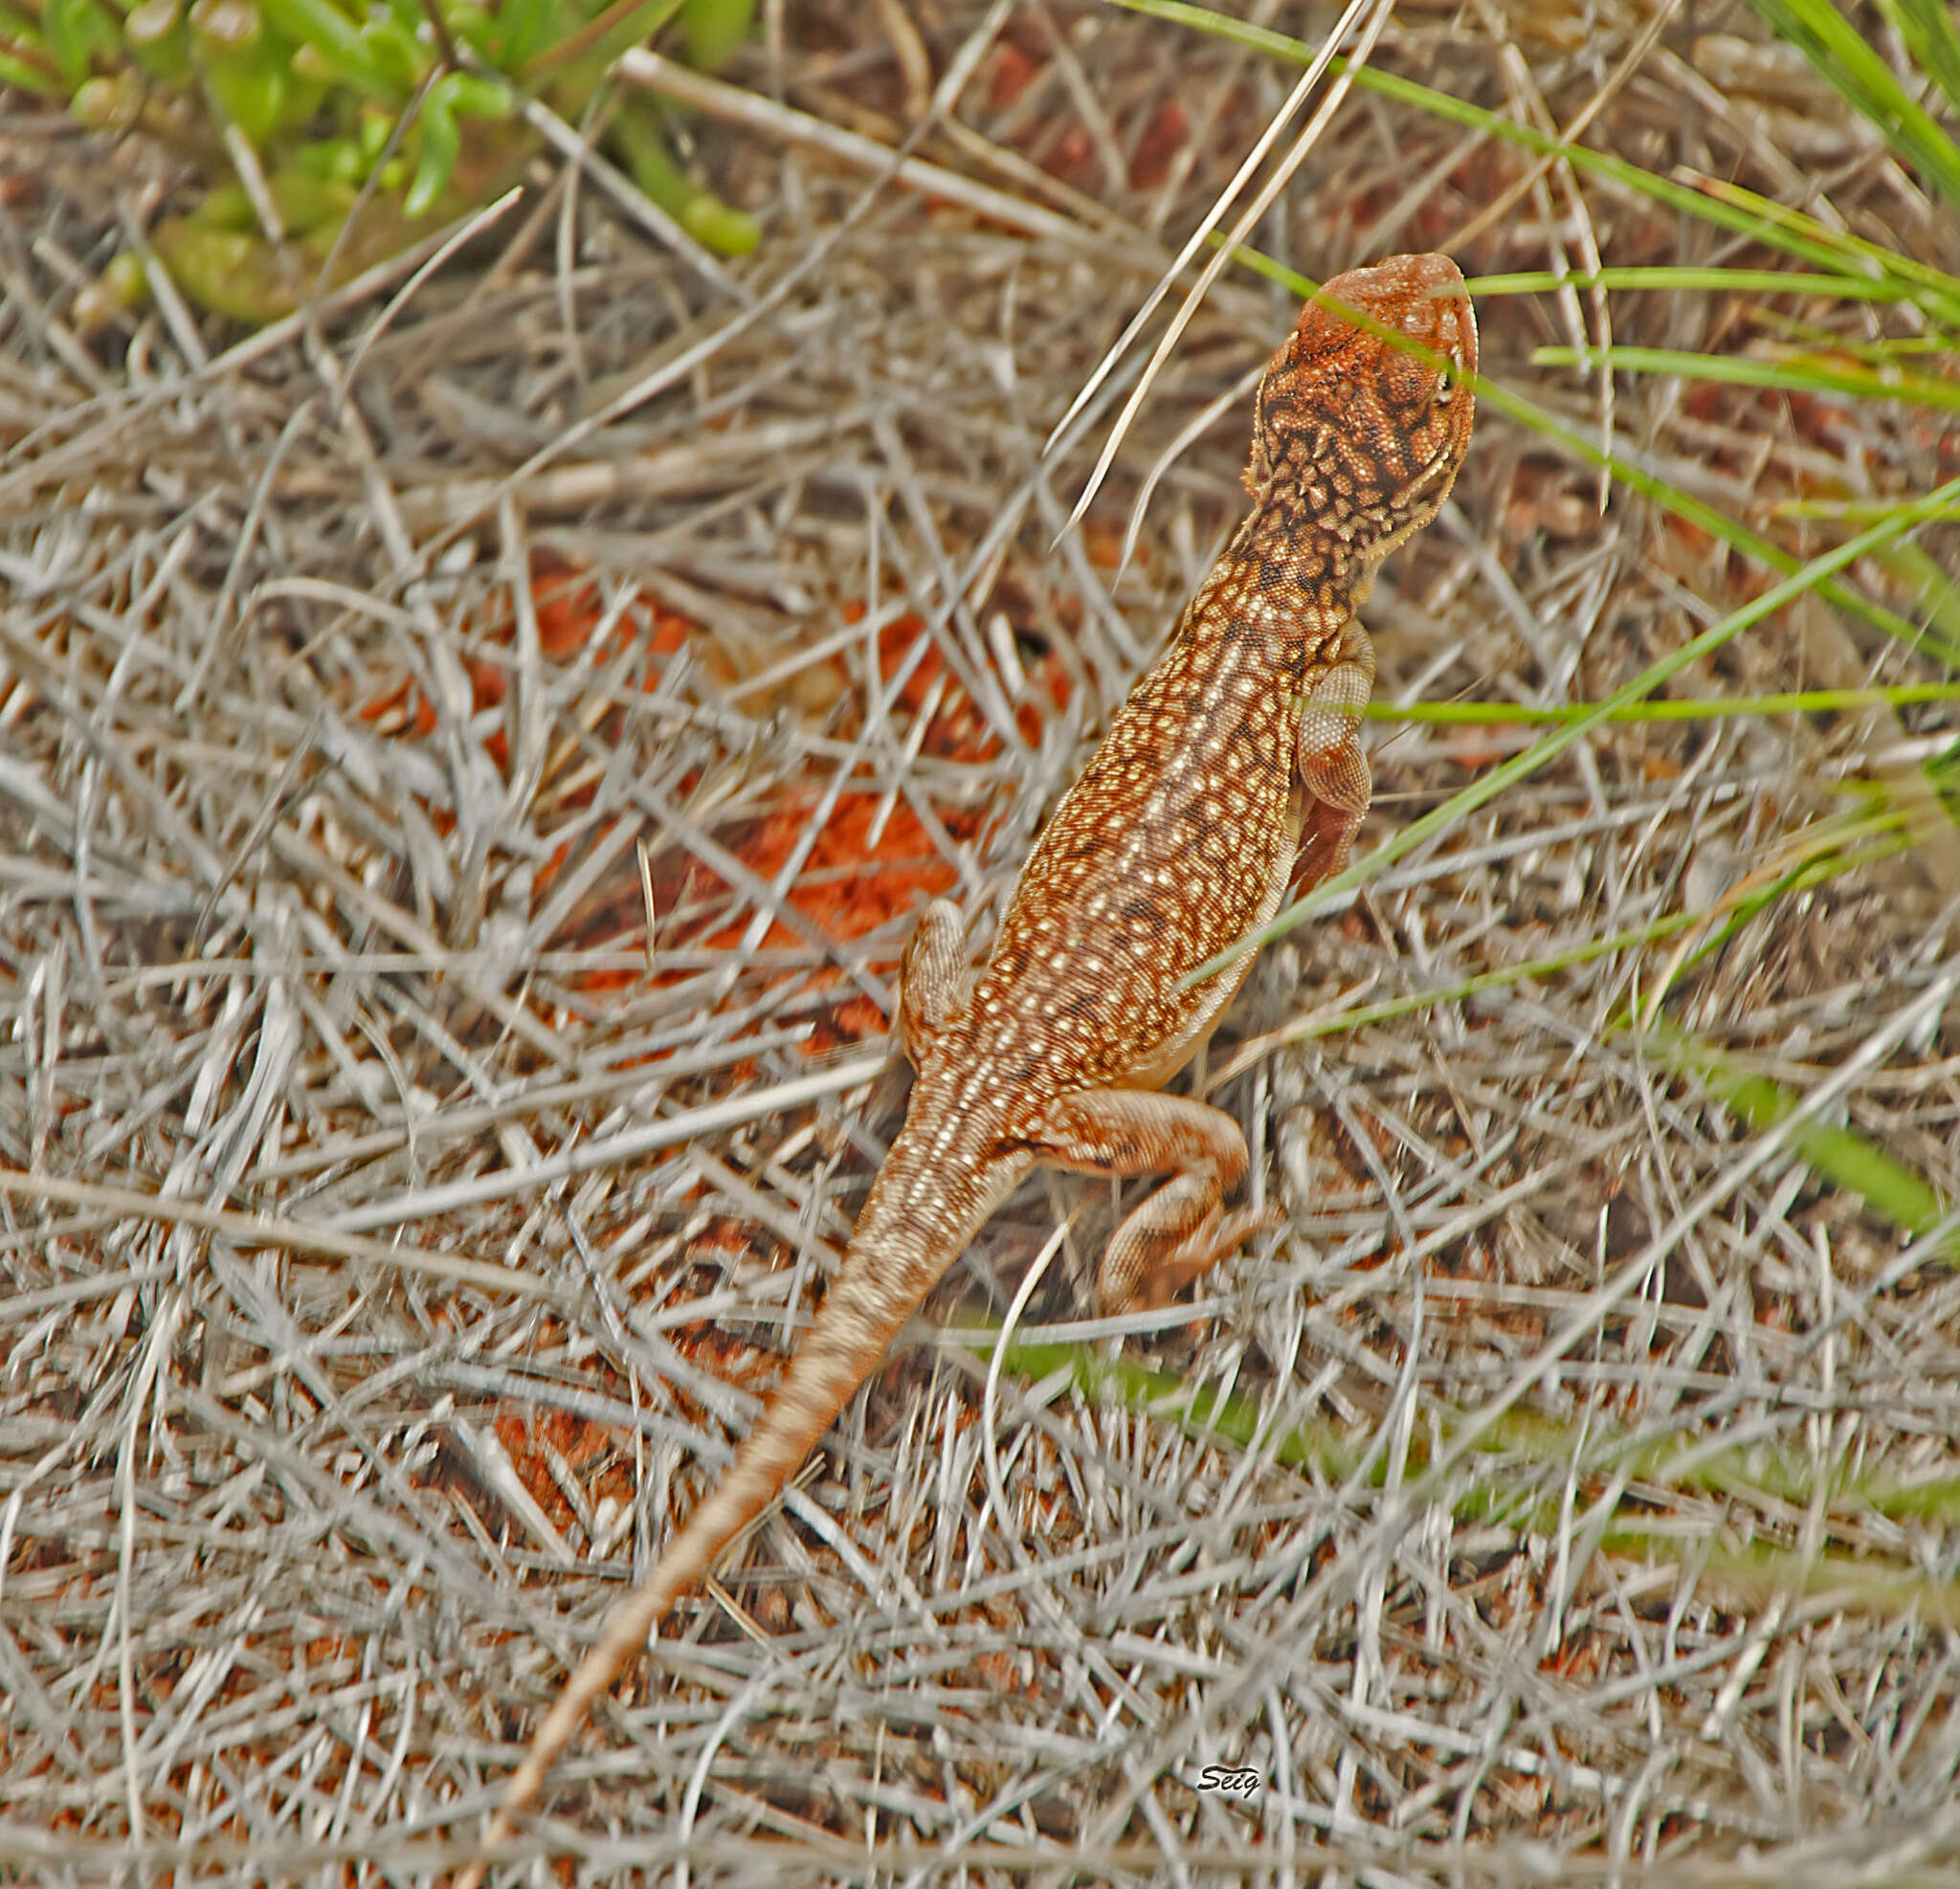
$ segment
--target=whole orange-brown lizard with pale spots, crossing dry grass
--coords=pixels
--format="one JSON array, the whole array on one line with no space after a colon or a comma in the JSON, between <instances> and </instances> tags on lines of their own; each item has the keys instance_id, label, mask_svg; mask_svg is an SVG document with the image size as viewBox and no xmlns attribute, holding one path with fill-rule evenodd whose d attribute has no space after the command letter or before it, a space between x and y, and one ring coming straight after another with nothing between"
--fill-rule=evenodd
<instances>
[{"instance_id":1,"label":"whole orange-brown lizard with pale spots, crossing dry grass","mask_svg":"<svg viewBox=\"0 0 1960 1889\"><path fill-rule=\"evenodd\" d=\"M1476 315L1446 257L1348 270L1307 302L1258 386L1252 508L1039 835L986 962L968 966L949 899L919 919L896 1003L911 1097L823 1305L721 1483L539 1724L484 1848L514 1834L592 1699L778 1497L1031 1168L1174 1176L1111 1236L1103 1309L1168 1303L1268 1225L1227 1207L1249 1170L1239 1123L1162 1086L1252 952L1190 972L1274 915L1296 860L1315 880L1347 864L1372 792L1358 715L1374 647L1356 609L1450 492L1474 372ZM478 1854L459 1889L482 1869Z\"/></svg>"}]
</instances>

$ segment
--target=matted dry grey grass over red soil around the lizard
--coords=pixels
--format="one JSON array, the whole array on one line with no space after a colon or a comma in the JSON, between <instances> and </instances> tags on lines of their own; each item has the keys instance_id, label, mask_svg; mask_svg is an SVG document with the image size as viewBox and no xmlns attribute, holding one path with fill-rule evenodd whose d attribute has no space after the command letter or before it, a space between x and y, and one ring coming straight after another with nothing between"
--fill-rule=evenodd
<instances>
[{"instance_id":1,"label":"matted dry grey grass over red soil around the lizard","mask_svg":"<svg viewBox=\"0 0 1960 1889\"><path fill-rule=\"evenodd\" d=\"M896 143L978 10L862 14L792 10L774 71ZM1548 125L1605 88L1590 141L1938 255L1835 96L1750 102L1648 24L1411 8L1376 61ZM16 1879L423 1879L476 1828L847 1235L909 913L1004 896L1233 519L1245 402L1113 568L1288 321L1243 276L1053 551L1135 364L1041 453L1292 78L1027 8L919 155L1045 219L704 123L766 212L739 280L559 170L465 266L227 355L180 308L76 341L159 180L6 123L55 153L0 192ZM1764 266L1556 170L1460 241L1523 165L1356 98L1260 241ZM1772 310L1897 325L1752 292L1613 327L1723 349ZM1486 302L1486 372L1597 429L1595 380L1531 364L1560 321ZM1897 408L1644 378L1607 417L1805 555L1778 502L1954 468ZM1762 584L1486 410L1370 609L1380 698L1595 700ZM1803 604L1676 692L1870 680L1950 678ZM1954 1881L1950 1221L1909 1240L1678 1050L1960 1197L1952 727L1615 725L1270 948L1209 1080L1292 1233L1113 1364L1068 1323L1109 1197L1031 1186L933 1311L998 1315L1066 1225L1047 1348L990 1395L958 1334L886 1364L561 1769L531 1879ZM1376 735L1364 847L1529 731Z\"/></svg>"}]
</instances>

